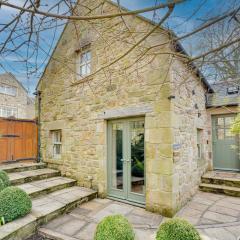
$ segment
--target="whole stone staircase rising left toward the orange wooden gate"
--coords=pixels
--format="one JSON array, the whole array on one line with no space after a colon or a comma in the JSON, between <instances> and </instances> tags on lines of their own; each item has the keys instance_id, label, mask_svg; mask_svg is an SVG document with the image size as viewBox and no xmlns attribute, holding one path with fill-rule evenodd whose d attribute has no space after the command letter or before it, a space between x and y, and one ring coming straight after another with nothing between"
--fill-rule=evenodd
<instances>
[{"instance_id":1,"label":"whole stone staircase rising left toward the orange wooden gate","mask_svg":"<svg viewBox=\"0 0 240 240\"><path fill-rule=\"evenodd\" d=\"M0 165L11 184L25 190L32 198L27 216L0 226L0 240L23 240L35 234L38 227L97 196L91 189L78 187L76 180L62 177L44 163Z\"/></svg>"}]
</instances>

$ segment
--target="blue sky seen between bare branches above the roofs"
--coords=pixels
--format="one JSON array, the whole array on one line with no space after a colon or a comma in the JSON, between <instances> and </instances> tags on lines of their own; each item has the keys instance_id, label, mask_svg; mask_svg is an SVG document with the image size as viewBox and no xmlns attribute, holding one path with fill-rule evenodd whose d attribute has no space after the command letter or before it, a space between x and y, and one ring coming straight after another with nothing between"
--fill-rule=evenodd
<instances>
[{"instance_id":1,"label":"blue sky seen between bare branches above the roofs","mask_svg":"<svg viewBox=\"0 0 240 240\"><path fill-rule=\"evenodd\" d=\"M15 4L22 5L23 0L11 0ZM56 0L55 0L56 1ZM49 0L45 0L49 2ZM51 0L52 2L52 0ZM130 10L141 9L149 6L154 6L164 2L163 0L120 0L120 4ZM171 17L168 19L165 27L172 29L177 35L183 35L190 32L205 20L213 18L219 15L221 12L227 11L229 8L237 7L237 0L187 0L184 3L178 4ZM239 4L240 5L240 4ZM159 17L163 15L164 11L160 10L157 14L153 15L153 12L143 14L145 17L158 21ZM12 18L16 14L16 11L10 8L2 7L0 9L0 24L6 20ZM0 25L1 26L1 25ZM24 27L24 26L23 26ZM37 62L39 63L39 70L36 74L27 76L26 63L19 62L19 56L17 54L0 54L0 73L5 71L13 73L17 79L22 82L25 88L32 94L35 90L36 84L45 68L45 64L41 64L43 60L47 60L47 53L50 49L50 45L54 46L61 35L63 26L59 27L56 32L46 31L42 33L42 38L39 40L39 47L42 49L41 53L37 56ZM0 43L6 36L0 32ZM196 42L196 36L183 42L185 49L190 54L196 54L194 48ZM51 48L52 49L52 48ZM21 53L25 54L25 53ZM46 63L47 61L45 61ZM29 63L31 66L31 62Z\"/></svg>"}]
</instances>

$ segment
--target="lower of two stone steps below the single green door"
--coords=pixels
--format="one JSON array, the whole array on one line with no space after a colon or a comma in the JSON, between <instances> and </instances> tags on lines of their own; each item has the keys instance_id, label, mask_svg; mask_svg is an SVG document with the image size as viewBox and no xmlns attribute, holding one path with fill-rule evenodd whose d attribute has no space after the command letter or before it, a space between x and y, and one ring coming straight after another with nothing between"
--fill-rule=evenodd
<instances>
[{"instance_id":1,"label":"lower of two stone steps below the single green door","mask_svg":"<svg viewBox=\"0 0 240 240\"><path fill-rule=\"evenodd\" d=\"M201 183L199 188L203 192L222 193L233 197L240 197L240 188L238 187Z\"/></svg>"}]
</instances>

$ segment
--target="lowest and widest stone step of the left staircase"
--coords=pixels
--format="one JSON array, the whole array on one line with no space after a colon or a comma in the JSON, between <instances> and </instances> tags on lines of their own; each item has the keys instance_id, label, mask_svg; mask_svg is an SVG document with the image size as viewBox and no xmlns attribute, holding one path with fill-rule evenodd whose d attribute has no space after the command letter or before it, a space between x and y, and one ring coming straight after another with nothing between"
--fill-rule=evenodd
<instances>
[{"instance_id":1,"label":"lowest and widest stone step of the left staircase","mask_svg":"<svg viewBox=\"0 0 240 240\"><path fill-rule=\"evenodd\" d=\"M39 226L96 196L94 190L74 186L33 199L30 214L0 227L0 240L26 239L34 235Z\"/></svg>"}]
</instances>

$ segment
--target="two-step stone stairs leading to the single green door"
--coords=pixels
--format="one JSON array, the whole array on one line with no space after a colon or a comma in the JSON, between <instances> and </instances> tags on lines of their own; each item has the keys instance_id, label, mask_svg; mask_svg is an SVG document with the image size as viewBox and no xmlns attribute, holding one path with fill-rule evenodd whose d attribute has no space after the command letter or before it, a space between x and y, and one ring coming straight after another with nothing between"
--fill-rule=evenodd
<instances>
[{"instance_id":1,"label":"two-step stone stairs leading to the single green door","mask_svg":"<svg viewBox=\"0 0 240 240\"><path fill-rule=\"evenodd\" d=\"M240 173L210 171L202 176L201 191L240 197Z\"/></svg>"}]
</instances>

